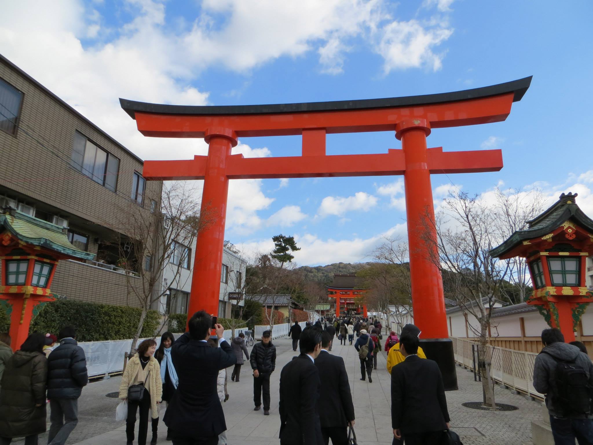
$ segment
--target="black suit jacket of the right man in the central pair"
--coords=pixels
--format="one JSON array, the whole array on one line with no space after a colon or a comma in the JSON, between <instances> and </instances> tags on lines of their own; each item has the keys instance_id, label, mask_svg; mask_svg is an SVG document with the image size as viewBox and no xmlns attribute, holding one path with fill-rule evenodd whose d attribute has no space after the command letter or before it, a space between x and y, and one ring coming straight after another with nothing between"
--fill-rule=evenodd
<instances>
[{"instance_id":1,"label":"black suit jacket of the right man in the central pair","mask_svg":"<svg viewBox=\"0 0 593 445\"><path fill-rule=\"evenodd\" d=\"M315 358L315 366L321 382L318 404L321 427L346 427L354 420L354 405L343 358L321 351Z\"/></svg>"}]
</instances>

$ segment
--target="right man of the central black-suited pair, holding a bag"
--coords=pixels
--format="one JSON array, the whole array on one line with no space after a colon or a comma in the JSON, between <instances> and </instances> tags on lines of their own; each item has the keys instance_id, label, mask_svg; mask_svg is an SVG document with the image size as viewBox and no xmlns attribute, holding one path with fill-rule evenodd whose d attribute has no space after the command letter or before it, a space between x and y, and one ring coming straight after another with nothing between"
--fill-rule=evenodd
<instances>
[{"instance_id":1,"label":"right man of the central black-suited pair, holding a bag","mask_svg":"<svg viewBox=\"0 0 593 445\"><path fill-rule=\"evenodd\" d=\"M347 445L347 426L354 426L354 405L348 374L342 357L331 355L327 348L333 337L326 330L321 335L321 352L315 358L321 382L319 391L319 419L325 445Z\"/></svg>"}]
</instances>

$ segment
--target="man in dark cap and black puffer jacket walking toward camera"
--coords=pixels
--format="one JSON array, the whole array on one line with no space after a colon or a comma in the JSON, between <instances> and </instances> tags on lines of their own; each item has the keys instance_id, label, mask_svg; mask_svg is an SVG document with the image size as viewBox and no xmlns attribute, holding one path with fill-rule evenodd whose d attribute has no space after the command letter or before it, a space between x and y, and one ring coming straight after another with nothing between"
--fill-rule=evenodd
<instances>
[{"instance_id":1,"label":"man in dark cap and black puffer jacket walking toward camera","mask_svg":"<svg viewBox=\"0 0 593 445\"><path fill-rule=\"evenodd\" d=\"M262 408L263 390L263 414L270 415L270 375L276 368L276 347L269 330L264 330L262 341L253 345L249 362L253 369L253 402L256 405L253 411Z\"/></svg>"}]
</instances>

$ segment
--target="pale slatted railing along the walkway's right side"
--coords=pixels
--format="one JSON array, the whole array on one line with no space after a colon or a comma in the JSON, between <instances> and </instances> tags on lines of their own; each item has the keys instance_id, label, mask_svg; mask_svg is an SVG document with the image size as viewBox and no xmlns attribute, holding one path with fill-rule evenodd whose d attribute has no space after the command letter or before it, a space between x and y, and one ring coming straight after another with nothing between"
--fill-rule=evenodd
<instances>
[{"instance_id":1,"label":"pale slatted railing along the walkway's right side","mask_svg":"<svg viewBox=\"0 0 593 445\"><path fill-rule=\"evenodd\" d=\"M471 352L471 345L477 342L451 337L455 361L466 368L474 369L474 359ZM528 396L544 397L533 387L533 367L535 364L535 352L515 351L514 349L498 348L486 345L486 354L490 358L490 374L492 378L516 391L526 393ZM477 360L477 353L476 353Z\"/></svg>"}]
</instances>

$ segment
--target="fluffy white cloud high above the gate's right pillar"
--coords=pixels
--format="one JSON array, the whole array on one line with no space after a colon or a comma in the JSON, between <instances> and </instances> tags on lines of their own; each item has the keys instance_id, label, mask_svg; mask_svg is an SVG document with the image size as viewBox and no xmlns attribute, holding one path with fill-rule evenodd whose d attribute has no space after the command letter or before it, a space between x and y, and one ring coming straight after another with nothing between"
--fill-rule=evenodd
<instances>
[{"instance_id":1,"label":"fluffy white cloud high above the gate's right pillar","mask_svg":"<svg viewBox=\"0 0 593 445\"><path fill-rule=\"evenodd\" d=\"M384 74L396 69L442 68L443 53L433 49L445 42L453 33L446 22L424 25L417 20L393 21L382 31L377 52L385 59Z\"/></svg>"}]
</instances>

